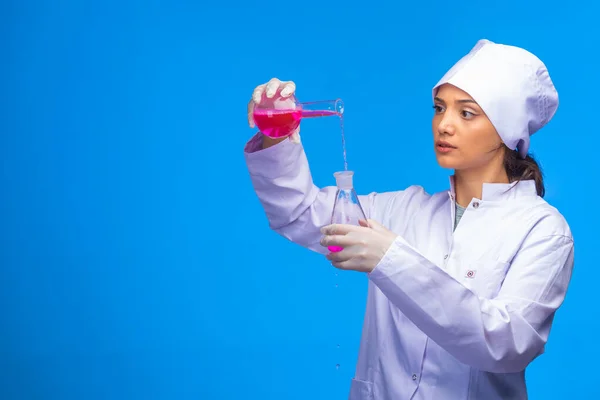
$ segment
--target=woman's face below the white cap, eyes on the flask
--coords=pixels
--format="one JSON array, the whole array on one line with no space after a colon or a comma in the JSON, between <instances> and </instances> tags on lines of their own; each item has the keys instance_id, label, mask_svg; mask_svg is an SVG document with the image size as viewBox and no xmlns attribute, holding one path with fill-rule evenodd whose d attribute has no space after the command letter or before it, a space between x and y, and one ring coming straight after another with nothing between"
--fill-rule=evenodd
<instances>
[{"instance_id":1,"label":"woman's face below the white cap, eyes on the flask","mask_svg":"<svg viewBox=\"0 0 600 400\"><path fill-rule=\"evenodd\" d=\"M442 85L434 109L433 139L441 167L466 170L502 165L502 139L471 96L450 84Z\"/></svg>"}]
</instances>

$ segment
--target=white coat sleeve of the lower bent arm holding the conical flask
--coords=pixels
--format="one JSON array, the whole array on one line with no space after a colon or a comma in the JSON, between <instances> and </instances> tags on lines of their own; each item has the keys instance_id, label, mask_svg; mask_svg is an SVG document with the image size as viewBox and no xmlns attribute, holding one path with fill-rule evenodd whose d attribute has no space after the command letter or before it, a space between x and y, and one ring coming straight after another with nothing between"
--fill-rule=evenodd
<instances>
[{"instance_id":1,"label":"white coat sleeve of the lower bent arm holding the conical flask","mask_svg":"<svg viewBox=\"0 0 600 400\"><path fill-rule=\"evenodd\" d=\"M519 372L543 353L571 279L570 232L547 232L543 226L530 232L492 299L478 297L401 237L369 278L457 360L489 372Z\"/></svg>"}]
</instances>

